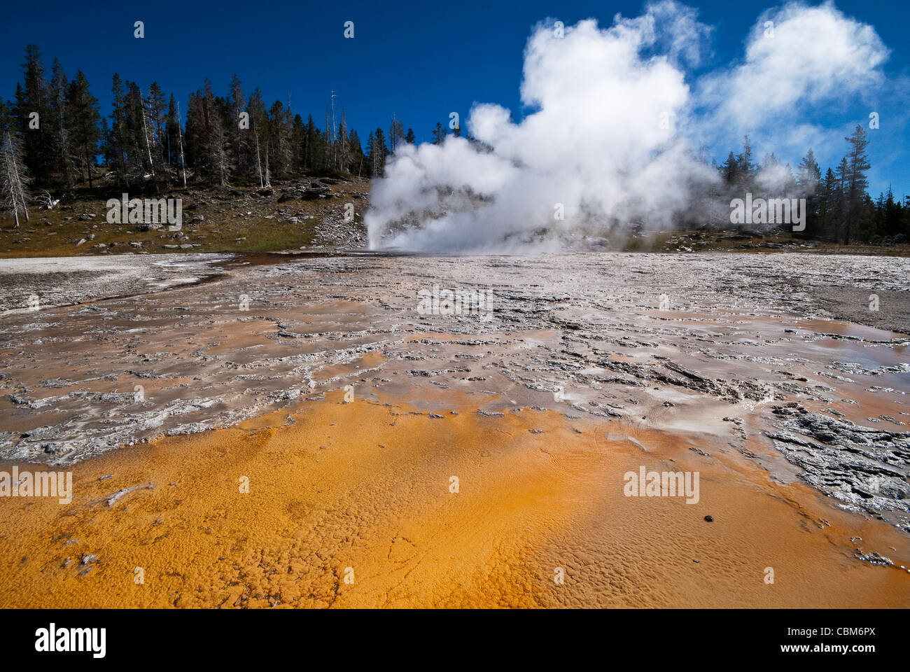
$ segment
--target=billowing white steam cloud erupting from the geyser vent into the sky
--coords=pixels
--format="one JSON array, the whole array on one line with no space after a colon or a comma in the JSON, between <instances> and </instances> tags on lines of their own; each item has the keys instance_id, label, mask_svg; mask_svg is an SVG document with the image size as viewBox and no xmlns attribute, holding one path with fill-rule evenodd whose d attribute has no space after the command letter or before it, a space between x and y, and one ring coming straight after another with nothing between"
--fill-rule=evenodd
<instances>
[{"instance_id":1,"label":"billowing white steam cloud erupting from the geyser vent into the sky","mask_svg":"<svg viewBox=\"0 0 910 672\"><path fill-rule=\"evenodd\" d=\"M675 2L607 28L581 21L564 36L552 21L537 25L521 83L535 111L516 124L499 105L475 104L467 128L479 143L399 148L370 197L370 247L553 249L726 217L699 138L736 147L757 132L769 148L804 152L819 129L795 118L801 107L868 90L887 57L871 26L834 5L790 4L759 17L743 62L693 81L710 33ZM784 180L775 174L763 183Z\"/></svg>"}]
</instances>

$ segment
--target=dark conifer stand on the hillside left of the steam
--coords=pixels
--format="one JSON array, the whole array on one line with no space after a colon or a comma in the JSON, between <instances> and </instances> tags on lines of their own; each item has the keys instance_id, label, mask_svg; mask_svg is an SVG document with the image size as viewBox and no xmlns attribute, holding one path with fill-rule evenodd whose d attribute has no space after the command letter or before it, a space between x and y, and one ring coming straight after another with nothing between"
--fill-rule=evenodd
<instances>
[{"instance_id":1,"label":"dark conifer stand on the hillside left of the steam","mask_svg":"<svg viewBox=\"0 0 910 672\"><path fill-rule=\"evenodd\" d=\"M268 106L258 87L247 96L236 75L224 96L208 79L189 94L183 124L173 93L157 82L143 89L115 73L105 116L81 70L68 78L55 58L48 77L34 45L25 47L22 68L15 99L0 99L0 169L37 189L92 188L99 165L117 187L133 188L187 181L265 187L271 178L305 173L381 176L389 156L417 139L393 115L388 133L377 127L364 143L334 94L320 128L289 103ZM437 127L434 138L441 141L447 129Z\"/></svg>"}]
</instances>

